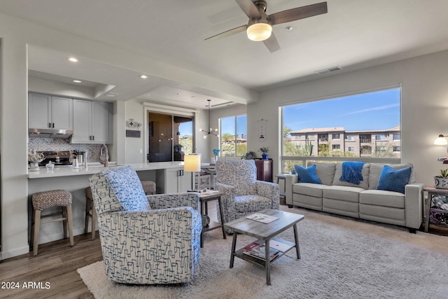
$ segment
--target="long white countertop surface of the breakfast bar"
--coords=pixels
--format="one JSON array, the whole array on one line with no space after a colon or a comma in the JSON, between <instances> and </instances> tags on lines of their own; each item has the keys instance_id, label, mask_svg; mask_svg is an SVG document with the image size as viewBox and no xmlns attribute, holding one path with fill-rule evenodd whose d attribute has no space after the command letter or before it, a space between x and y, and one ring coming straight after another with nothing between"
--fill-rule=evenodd
<instances>
[{"instance_id":1,"label":"long white countertop surface of the breakfast bar","mask_svg":"<svg viewBox=\"0 0 448 299\"><path fill-rule=\"evenodd\" d=\"M137 172L139 172L144 170L183 167L183 162L182 161L151 162L151 163L118 164L118 165L113 165L113 162L109 162L109 167L104 167L102 164L99 163L88 163L87 167L79 167L79 168L55 167L55 169L53 170L47 170L45 169L45 167L43 167L38 172L28 171L28 179L43 179L59 176L90 175L90 174L96 174L104 169L123 167L123 166L132 166Z\"/></svg>"}]
</instances>

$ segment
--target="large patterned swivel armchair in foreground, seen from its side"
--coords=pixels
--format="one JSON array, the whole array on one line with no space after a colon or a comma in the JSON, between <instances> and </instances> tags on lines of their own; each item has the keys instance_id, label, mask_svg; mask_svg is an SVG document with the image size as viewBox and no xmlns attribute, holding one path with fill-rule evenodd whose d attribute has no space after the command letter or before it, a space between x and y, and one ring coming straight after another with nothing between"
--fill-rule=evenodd
<instances>
[{"instance_id":1,"label":"large patterned swivel armchair in foreground, seen from its side","mask_svg":"<svg viewBox=\"0 0 448 299\"><path fill-rule=\"evenodd\" d=\"M146 196L132 167L90 176L106 276L124 284L193 279L200 256L198 193Z\"/></svg>"}]
</instances>

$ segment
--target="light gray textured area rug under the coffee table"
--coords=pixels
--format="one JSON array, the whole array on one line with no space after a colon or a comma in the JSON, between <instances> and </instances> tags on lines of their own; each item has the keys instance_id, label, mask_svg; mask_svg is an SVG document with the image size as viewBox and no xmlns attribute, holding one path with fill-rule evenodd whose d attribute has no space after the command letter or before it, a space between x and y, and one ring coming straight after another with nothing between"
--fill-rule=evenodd
<instances>
[{"instance_id":1,"label":"light gray textured area rug under the coffee table","mask_svg":"<svg viewBox=\"0 0 448 299\"><path fill-rule=\"evenodd\" d=\"M448 298L448 237L356 221L304 209L298 223L301 259L289 251L265 271L235 258L232 237L207 232L200 268L190 284L138 286L106 279L103 263L78 269L95 298ZM279 237L293 242L293 229ZM239 235L237 248L252 242Z\"/></svg>"}]
</instances>

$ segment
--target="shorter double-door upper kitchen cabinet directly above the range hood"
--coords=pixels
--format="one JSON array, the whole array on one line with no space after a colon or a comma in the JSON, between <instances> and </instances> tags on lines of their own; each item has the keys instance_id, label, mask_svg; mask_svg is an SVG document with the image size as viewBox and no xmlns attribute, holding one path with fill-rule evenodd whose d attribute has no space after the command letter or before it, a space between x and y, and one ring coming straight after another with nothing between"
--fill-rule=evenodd
<instances>
[{"instance_id":1,"label":"shorter double-door upper kitchen cabinet directly above the range hood","mask_svg":"<svg viewBox=\"0 0 448 299\"><path fill-rule=\"evenodd\" d=\"M73 130L73 99L29 92L28 127Z\"/></svg>"}]
</instances>

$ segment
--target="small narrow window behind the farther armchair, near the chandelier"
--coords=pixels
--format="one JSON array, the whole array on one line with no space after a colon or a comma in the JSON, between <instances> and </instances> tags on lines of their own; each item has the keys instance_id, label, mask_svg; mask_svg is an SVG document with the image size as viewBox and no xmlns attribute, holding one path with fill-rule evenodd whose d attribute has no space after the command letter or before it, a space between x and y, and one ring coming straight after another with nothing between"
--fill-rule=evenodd
<instances>
[{"instance_id":1,"label":"small narrow window behind the farther armchair, near the chandelier","mask_svg":"<svg viewBox=\"0 0 448 299\"><path fill-rule=\"evenodd\" d=\"M246 115L219 119L221 157L238 157L247 151Z\"/></svg>"}]
</instances>

